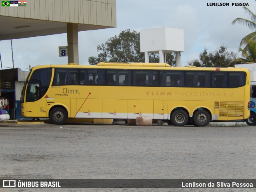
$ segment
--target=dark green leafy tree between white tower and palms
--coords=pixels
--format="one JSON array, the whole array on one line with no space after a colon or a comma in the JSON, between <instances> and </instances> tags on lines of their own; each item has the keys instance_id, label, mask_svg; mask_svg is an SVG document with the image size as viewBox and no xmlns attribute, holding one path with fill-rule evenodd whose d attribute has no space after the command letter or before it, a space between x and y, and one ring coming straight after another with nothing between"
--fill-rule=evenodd
<instances>
[{"instance_id":1,"label":"dark green leafy tree between white tower and palms","mask_svg":"<svg viewBox=\"0 0 256 192\"><path fill-rule=\"evenodd\" d=\"M204 48L199 54L199 60L188 62L188 65L196 67L234 67L235 64L238 64L236 53L228 52L225 46L216 48L214 52Z\"/></svg>"}]
</instances>

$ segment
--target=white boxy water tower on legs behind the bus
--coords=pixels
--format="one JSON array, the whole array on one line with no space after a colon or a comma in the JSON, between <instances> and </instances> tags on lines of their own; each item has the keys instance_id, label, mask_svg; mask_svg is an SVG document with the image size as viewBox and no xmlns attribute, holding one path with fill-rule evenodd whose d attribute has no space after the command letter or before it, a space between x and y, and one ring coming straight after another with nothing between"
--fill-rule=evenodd
<instances>
[{"instance_id":1,"label":"white boxy water tower on legs behind the bus","mask_svg":"<svg viewBox=\"0 0 256 192\"><path fill-rule=\"evenodd\" d=\"M184 31L176 28L153 28L140 30L140 52L159 53L159 62L166 62L166 53L176 52L176 66L181 66L181 52L184 51Z\"/></svg>"}]
</instances>

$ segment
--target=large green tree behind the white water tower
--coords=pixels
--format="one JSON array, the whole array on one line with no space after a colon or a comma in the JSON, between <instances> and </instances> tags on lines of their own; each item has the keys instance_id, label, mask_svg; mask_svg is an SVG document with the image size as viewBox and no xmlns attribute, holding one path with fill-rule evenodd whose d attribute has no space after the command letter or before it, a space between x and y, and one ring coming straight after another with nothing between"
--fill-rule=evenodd
<instances>
[{"instance_id":1,"label":"large green tree behind the white water tower","mask_svg":"<svg viewBox=\"0 0 256 192\"><path fill-rule=\"evenodd\" d=\"M123 30L118 36L111 37L105 43L97 46L98 57L89 57L90 65L99 62L144 62L145 55L140 52L140 33ZM167 63L175 65L175 54L166 54ZM150 54L150 62L159 62L159 54Z\"/></svg>"}]
</instances>

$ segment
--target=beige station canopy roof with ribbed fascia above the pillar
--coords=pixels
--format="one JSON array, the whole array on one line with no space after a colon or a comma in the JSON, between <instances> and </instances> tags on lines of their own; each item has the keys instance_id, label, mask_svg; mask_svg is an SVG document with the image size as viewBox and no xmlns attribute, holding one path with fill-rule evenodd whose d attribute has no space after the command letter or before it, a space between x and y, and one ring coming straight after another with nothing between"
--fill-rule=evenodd
<instances>
[{"instance_id":1,"label":"beige station canopy roof with ribbed fascia above the pillar","mask_svg":"<svg viewBox=\"0 0 256 192\"><path fill-rule=\"evenodd\" d=\"M3 2L3 1L1 1ZM0 40L116 27L116 0L28 0L26 6L0 6Z\"/></svg>"}]
</instances>

